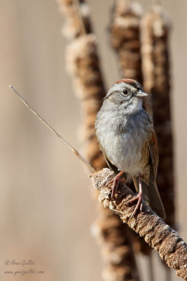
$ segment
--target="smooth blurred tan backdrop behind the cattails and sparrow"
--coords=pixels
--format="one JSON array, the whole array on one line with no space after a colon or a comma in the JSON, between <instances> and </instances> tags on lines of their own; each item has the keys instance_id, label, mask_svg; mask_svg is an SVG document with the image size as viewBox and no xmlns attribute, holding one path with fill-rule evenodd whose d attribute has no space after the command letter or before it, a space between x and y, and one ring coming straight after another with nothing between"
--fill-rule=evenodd
<instances>
[{"instance_id":1,"label":"smooth blurred tan backdrop behind the cattails and sparrow","mask_svg":"<svg viewBox=\"0 0 187 281\"><path fill-rule=\"evenodd\" d=\"M139 1L145 10L151 1ZM106 26L113 0L88 1L107 87L118 79ZM176 215L187 240L187 2L163 0L172 18L172 118ZM102 280L99 247L90 234L96 217L90 179L71 151L8 89L12 84L64 138L81 151L79 103L64 65L67 41L55 0L0 0L0 278L1 280ZM6 266L5 261L34 261ZM158 259L155 257L158 266ZM143 266L143 268L142 268ZM146 279L141 259L141 275ZM43 270L24 277L5 270ZM156 270L158 273L158 269ZM161 273L160 273L161 272ZM162 270L159 270L160 278ZM179 280L172 272L172 280Z\"/></svg>"}]
</instances>

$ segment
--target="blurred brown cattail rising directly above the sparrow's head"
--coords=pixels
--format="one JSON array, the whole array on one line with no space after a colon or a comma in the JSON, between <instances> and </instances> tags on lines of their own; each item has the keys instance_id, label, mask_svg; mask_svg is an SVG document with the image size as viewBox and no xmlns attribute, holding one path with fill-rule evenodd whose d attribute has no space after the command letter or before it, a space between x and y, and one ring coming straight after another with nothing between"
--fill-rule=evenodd
<instances>
[{"instance_id":1,"label":"blurred brown cattail rising directly above the sparrow's head","mask_svg":"<svg viewBox=\"0 0 187 281\"><path fill-rule=\"evenodd\" d=\"M122 77L142 82L140 51L141 6L116 0L111 19L111 44L116 50Z\"/></svg>"}]
</instances>

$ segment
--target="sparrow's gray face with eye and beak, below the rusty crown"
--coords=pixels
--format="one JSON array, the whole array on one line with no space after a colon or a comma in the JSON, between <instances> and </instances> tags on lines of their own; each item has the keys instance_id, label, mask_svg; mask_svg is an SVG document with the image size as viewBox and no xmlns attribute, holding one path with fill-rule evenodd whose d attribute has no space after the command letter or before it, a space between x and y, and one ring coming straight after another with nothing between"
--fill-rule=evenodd
<instances>
[{"instance_id":1,"label":"sparrow's gray face with eye and beak, below the rusty crown","mask_svg":"<svg viewBox=\"0 0 187 281\"><path fill-rule=\"evenodd\" d=\"M138 110L141 107L141 97L147 96L142 91L141 85L134 87L134 85L121 82L119 84L113 84L109 92L107 93L105 100L120 105L128 111Z\"/></svg>"}]
</instances>

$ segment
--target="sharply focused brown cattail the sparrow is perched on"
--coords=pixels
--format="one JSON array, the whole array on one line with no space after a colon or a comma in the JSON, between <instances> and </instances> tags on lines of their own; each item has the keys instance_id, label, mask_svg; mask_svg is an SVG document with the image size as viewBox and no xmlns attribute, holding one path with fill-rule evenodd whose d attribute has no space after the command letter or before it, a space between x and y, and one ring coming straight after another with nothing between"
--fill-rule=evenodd
<instances>
[{"instance_id":1,"label":"sharply focused brown cattail the sparrow is perched on","mask_svg":"<svg viewBox=\"0 0 187 281\"><path fill-rule=\"evenodd\" d=\"M115 200L111 202L111 187L106 187L106 183L111 181L114 176L115 174L113 171L109 169L103 169L90 176L93 185L100 192L99 201L103 202L104 207L116 210L121 220L139 233L140 236L144 237L144 240L153 247L153 249L158 251L161 259L167 263L169 268L174 268L176 270L176 275L187 280L186 243L176 231L167 226L167 224L144 203L142 211L130 218L136 202L126 205L125 202L134 197L135 194L123 183L120 183L118 194Z\"/></svg>"}]
</instances>

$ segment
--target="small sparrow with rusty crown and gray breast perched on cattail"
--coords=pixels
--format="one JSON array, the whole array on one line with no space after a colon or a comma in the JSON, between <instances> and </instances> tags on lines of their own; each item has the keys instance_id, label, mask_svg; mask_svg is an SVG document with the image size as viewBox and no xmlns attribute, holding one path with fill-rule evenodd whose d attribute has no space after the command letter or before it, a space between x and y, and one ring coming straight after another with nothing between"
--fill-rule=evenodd
<instances>
[{"instance_id":1,"label":"small sparrow with rusty crown and gray breast perched on cattail","mask_svg":"<svg viewBox=\"0 0 187 281\"><path fill-rule=\"evenodd\" d=\"M139 193L127 203L138 200L132 216L142 209L142 197L158 216L165 218L155 177L158 169L158 146L151 117L142 107L148 96L141 84L120 79L109 89L97 113L95 129L106 162L116 172L111 197L121 176L132 176ZM109 183L108 183L109 184Z\"/></svg>"}]
</instances>

